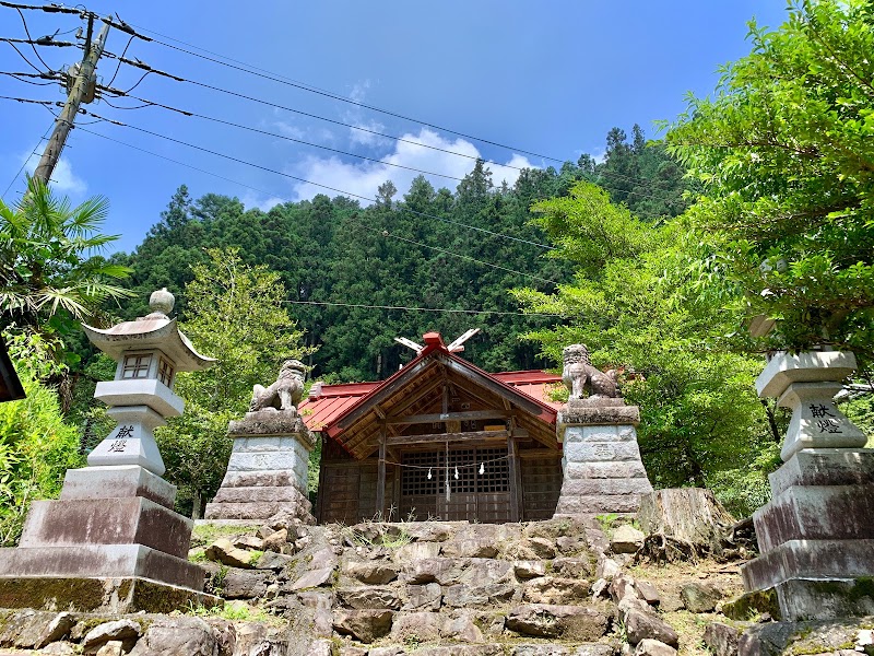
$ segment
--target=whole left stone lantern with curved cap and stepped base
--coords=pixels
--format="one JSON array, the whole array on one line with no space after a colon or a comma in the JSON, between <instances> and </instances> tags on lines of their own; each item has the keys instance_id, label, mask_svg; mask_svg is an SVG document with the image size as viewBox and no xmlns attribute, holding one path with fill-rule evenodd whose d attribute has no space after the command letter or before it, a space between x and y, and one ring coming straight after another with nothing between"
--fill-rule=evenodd
<instances>
[{"instance_id":1,"label":"whole left stone lantern with curved cap and stepped base","mask_svg":"<svg viewBox=\"0 0 874 656\"><path fill-rule=\"evenodd\" d=\"M69 469L60 499L31 504L16 549L0 550L0 606L82 611L169 612L214 605L203 571L188 562L193 522L174 512L176 488L161 478L154 429L185 407L173 393L177 372L215 362L200 355L167 317L174 297L152 294L152 313L88 339L118 362L95 398L118 422L87 458Z\"/></svg>"}]
</instances>

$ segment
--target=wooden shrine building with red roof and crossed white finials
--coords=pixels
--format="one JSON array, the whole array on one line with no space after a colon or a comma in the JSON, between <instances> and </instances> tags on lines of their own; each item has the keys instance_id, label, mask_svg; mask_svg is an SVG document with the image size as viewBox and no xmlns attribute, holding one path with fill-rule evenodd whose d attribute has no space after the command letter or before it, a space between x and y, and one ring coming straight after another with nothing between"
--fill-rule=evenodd
<instances>
[{"instance_id":1,"label":"wooden shrine building with red roof and crossed white finials","mask_svg":"<svg viewBox=\"0 0 874 656\"><path fill-rule=\"evenodd\" d=\"M404 340L416 356L382 382L314 386L299 412L322 437L317 522L553 517L560 376L486 373L457 354L465 337Z\"/></svg>"}]
</instances>

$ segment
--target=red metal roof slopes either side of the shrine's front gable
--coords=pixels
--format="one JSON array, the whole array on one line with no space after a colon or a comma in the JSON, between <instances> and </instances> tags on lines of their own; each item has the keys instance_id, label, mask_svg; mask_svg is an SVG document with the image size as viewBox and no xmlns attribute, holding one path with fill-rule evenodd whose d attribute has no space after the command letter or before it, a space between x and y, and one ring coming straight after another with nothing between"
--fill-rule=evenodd
<instances>
[{"instance_id":1,"label":"red metal roof slopes either side of the shrine's front gable","mask_svg":"<svg viewBox=\"0 0 874 656\"><path fill-rule=\"evenodd\" d=\"M426 337L430 337L430 333ZM564 407L563 402L551 400L550 394L551 389L556 385L562 385L562 376L559 375L540 370L500 372L486 375L555 410L560 410ZM342 385L320 385L317 383L310 389L309 398L299 405L298 410L310 431L321 431L322 427L333 423L352 406L385 383L385 380L377 383L346 383Z\"/></svg>"}]
</instances>

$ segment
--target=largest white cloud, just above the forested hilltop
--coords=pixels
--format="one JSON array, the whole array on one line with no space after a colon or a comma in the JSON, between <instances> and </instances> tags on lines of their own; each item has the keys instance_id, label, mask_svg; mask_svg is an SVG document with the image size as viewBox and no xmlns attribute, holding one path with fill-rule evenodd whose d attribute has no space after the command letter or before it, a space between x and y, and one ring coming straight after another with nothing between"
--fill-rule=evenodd
<instances>
[{"instance_id":1,"label":"largest white cloud, just above the forested hilltop","mask_svg":"<svg viewBox=\"0 0 874 656\"><path fill-rule=\"evenodd\" d=\"M393 151L381 157L378 163L347 163L336 156L308 157L303 163L288 167L286 171L298 177L327 185L334 189L341 189L343 192L371 199L376 196L379 185L386 180L390 179L394 183L400 195L403 195L410 188L410 183L412 183L413 178L420 175L417 171L399 168L398 166L392 166L392 164L427 171L430 174L445 174L446 176L451 176L451 178L462 178L473 169L474 161L480 156L480 151L471 142L460 138L454 141L444 139L437 132L425 128L418 134L408 133L402 138L403 141L397 141ZM423 148L423 145L433 148ZM459 156L453 153L461 153L466 156ZM492 179L495 185L500 185L503 180L506 180L508 185L516 183L520 172L517 168L508 167L508 165L519 168L535 168L528 159L518 154L513 154L509 161L503 164L487 162L488 168L492 169ZM457 179L430 174L425 174L425 177L435 188L449 187L454 189L458 185ZM335 191L304 183L294 185L294 194L298 200L312 198L317 194L336 195ZM363 202L366 204L367 201L363 200Z\"/></svg>"}]
</instances>

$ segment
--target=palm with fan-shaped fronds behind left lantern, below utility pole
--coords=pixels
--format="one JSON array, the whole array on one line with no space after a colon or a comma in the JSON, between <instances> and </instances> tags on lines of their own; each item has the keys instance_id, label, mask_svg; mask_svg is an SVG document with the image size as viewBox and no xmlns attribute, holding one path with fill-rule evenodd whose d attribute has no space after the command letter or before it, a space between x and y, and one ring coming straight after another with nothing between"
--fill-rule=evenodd
<instances>
[{"instance_id":1,"label":"palm with fan-shaped fronds behind left lantern, below utility pole","mask_svg":"<svg viewBox=\"0 0 874 656\"><path fill-rule=\"evenodd\" d=\"M109 203L104 197L71 207L29 178L14 207L0 200L0 319L36 327L66 315L90 317L106 298L130 296L114 284L127 267L97 255L118 235L99 234Z\"/></svg>"}]
</instances>

